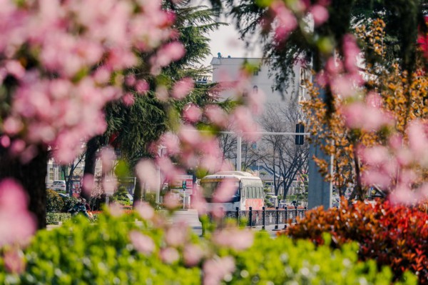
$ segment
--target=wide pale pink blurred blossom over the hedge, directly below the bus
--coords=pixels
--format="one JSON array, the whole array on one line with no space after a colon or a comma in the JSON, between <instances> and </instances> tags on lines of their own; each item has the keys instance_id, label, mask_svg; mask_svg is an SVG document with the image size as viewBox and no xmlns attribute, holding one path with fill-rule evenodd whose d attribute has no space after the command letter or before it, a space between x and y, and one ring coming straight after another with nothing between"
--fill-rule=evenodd
<instances>
[{"instance_id":1,"label":"wide pale pink blurred blossom over the hedge, directly below the bus","mask_svg":"<svg viewBox=\"0 0 428 285\"><path fill-rule=\"evenodd\" d=\"M244 229L223 229L215 231L213 234L214 244L235 249L236 251L248 249L253 245L253 241L253 232Z\"/></svg>"}]
</instances>

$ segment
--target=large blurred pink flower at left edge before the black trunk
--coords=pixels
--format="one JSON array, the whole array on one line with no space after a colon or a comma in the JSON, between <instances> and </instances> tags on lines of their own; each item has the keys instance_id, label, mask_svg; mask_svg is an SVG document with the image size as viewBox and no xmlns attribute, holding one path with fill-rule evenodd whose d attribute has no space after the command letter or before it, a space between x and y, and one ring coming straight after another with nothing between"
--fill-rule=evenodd
<instances>
[{"instance_id":1,"label":"large blurred pink flower at left edge before the black trunk","mask_svg":"<svg viewBox=\"0 0 428 285\"><path fill-rule=\"evenodd\" d=\"M16 181L0 181L0 248L24 246L36 231L36 219L27 204L28 197Z\"/></svg>"}]
</instances>

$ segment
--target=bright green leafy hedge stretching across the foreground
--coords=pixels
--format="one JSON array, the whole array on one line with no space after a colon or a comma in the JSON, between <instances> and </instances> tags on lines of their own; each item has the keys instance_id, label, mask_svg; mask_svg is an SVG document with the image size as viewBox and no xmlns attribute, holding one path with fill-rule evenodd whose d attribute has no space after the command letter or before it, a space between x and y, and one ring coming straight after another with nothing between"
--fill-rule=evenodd
<instances>
[{"instance_id":1,"label":"bright green leafy hedge stretching across the foreground","mask_svg":"<svg viewBox=\"0 0 428 285\"><path fill-rule=\"evenodd\" d=\"M97 224L90 224L78 216L56 229L39 231L24 249L26 267L21 274L7 272L0 258L0 284L203 284L204 264L225 259L233 260L233 266L228 264L231 271L221 284L392 284L387 267L378 271L374 261L357 261L356 244L332 250L286 236L272 239L265 232L255 234L249 249L236 251L213 243L214 234L200 238L188 229L185 246L169 247L178 252L178 260L166 264L161 252L168 244L168 229L158 228L157 219L142 223L136 219L141 217L103 214ZM173 234L182 229L176 226ZM151 254L136 250L131 231L151 238ZM184 258L189 246L203 249L202 259L192 266ZM223 268L220 262L214 272ZM414 276L405 276L405 284L416 284Z\"/></svg>"}]
</instances>

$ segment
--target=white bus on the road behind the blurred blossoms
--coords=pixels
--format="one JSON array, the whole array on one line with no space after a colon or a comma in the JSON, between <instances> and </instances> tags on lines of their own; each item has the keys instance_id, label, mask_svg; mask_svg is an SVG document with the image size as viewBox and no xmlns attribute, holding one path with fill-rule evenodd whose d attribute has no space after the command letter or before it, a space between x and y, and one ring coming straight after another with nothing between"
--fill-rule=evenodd
<instances>
[{"instance_id":1,"label":"white bus on the road behind the blurred blossoms","mask_svg":"<svg viewBox=\"0 0 428 285\"><path fill-rule=\"evenodd\" d=\"M213 197L220 183L226 179L235 182L235 194L230 196L230 200L224 203L214 203ZM258 176L253 176L244 171L221 171L200 179L200 194L208 202L208 210L215 207L223 208L223 211L235 211L238 207L240 211L262 210L265 206L265 191L263 182Z\"/></svg>"}]
</instances>

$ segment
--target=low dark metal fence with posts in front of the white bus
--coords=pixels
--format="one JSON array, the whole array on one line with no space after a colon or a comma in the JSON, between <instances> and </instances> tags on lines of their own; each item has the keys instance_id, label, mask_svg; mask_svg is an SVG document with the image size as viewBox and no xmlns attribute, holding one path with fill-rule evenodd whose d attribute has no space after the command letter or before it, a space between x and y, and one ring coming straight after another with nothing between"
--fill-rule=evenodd
<instances>
[{"instance_id":1,"label":"low dark metal fence with posts in front of the white bus","mask_svg":"<svg viewBox=\"0 0 428 285\"><path fill-rule=\"evenodd\" d=\"M235 219L237 224L240 224L245 220L247 221L247 226L262 226L265 229L265 226L275 225L275 229L278 229L280 224L297 223L297 217L302 219L306 211L306 207L305 209L287 209L287 207L279 209L276 207L275 210L266 210L265 207L263 207L263 210L253 210L250 207L249 211L240 211L239 208L236 208L235 211L224 211L223 221L221 222L224 222L225 219Z\"/></svg>"}]
</instances>

